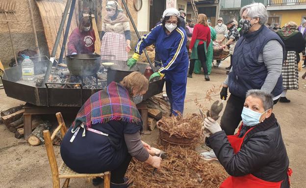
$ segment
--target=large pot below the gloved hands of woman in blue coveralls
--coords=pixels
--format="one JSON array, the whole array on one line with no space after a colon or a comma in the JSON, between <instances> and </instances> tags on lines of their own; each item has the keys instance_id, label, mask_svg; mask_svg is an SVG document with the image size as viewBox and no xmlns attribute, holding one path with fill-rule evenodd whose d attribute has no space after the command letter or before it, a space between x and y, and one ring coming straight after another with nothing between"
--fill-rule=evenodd
<instances>
[{"instance_id":1,"label":"large pot below the gloved hands of woman in blue coveralls","mask_svg":"<svg viewBox=\"0 0 306 188\"><path fill-rule=\"evenodd\" d=\"M112 65L107 68L107 85L111 82L120 83L124 77L134 71L139 71L137 66L129 68L128 65Z\"/></svg>"}]
</instances>

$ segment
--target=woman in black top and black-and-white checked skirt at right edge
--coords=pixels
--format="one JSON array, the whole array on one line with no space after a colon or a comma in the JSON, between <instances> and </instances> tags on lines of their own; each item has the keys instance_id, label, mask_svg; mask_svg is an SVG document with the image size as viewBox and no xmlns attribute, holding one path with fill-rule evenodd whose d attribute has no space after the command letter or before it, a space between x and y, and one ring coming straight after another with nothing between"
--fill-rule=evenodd
<instances>
[{"instance_id":1,"label":"woman in black top and black-and-white checked skirt at right edge","mask_svg":"<svg viewBox=\"0 0 306 188\"><path fill-rule=\"evenodd\" d=\"M282 42L284 42L286 50L281 71L282 85L284 87L284 90L280 95L281 103L290 103L290 100L286 98L288 89L299 88L299 53L305 50L305 39L297 28L297 24L293 21L290 21L286 23L285 26L280 29L280 31L277 32Z\"/></svg>"}]
</instances>

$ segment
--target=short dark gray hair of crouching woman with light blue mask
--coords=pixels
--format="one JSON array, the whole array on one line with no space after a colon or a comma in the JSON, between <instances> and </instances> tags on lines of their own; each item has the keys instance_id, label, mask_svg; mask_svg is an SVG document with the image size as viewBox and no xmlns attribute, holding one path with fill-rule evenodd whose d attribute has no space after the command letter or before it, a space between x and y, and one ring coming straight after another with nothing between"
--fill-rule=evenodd
<instances>
[{"instance_id":1,"label":"short dark gray hair of crouching woman with light blue mask","mask_svg":"<svg viewBox=\"0 0 306 188\"><path fill-rule=\"evenodd\" d=\"M259 98L262 101L264 110L273 108L273 95L271 93L267 93L259 89L250 89L247 92L246 98L249 96Z\"/></svg>"}]
</instances>

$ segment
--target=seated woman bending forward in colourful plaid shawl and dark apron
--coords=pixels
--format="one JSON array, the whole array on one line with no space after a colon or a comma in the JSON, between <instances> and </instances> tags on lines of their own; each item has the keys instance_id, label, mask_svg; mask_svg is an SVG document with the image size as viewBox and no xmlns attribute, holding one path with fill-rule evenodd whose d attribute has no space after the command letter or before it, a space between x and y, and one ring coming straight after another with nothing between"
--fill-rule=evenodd
<instances>
[{"instance_id":1,"label":"seated woman bending forward in colourful plaid shawl and dark apron","mask_svg":"<svg viewBox=\"0 0 306 188\"><path fill-rule=\"evenodd\" d=\"M110 83L80 108L65 134L60 153L65 164L78 173L111 172L111 188L128 188L125 177L131 158L159 168L156 149L141 141L142 120L136 104L148 90L148 79L139 72L118 84ZM102 183L93 179L94 185Z\"/></svg>"}]
</instances>

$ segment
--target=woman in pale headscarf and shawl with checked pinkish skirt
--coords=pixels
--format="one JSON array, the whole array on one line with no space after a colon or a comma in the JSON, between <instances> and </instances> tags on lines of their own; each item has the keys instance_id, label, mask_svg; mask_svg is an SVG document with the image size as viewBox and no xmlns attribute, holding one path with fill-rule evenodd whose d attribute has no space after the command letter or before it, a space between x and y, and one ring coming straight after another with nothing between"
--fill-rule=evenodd
<instances>
[{"instance_id":1,"label":"woman in pale headscarf and shawl with checked pinkish skirt","mask_svg":"<svg viewBox=\"0 0 306 188\"><path fill-rule=\"evenodd\" d=\"M101 59L127 61L130 51L130 27L117 1L106 3L106 16L102 21Z\"/></svg>"}]
</instances>

